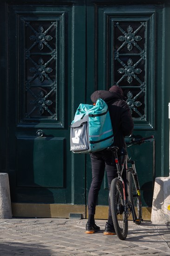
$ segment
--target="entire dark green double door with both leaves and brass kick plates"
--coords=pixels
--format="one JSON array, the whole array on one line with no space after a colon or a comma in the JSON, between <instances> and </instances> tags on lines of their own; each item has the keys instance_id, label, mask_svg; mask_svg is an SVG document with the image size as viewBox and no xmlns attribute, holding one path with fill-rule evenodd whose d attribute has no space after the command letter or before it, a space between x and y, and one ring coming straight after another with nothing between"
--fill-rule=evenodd
<instances>
[{"instance_id":1,"label":"entire dark green double door with both leaves and brass kick plates","mask_svg":"<svg viewBox=\"0 0 170 256\"><path fill-rule=\"evenodd\" d=\"M153 3L154 2L154 3ZM168 1L1 1L1 170L14 216L86 217L89 155L70 152L70 123L94 90L120 86L131 108L144 214L168 175ZM107 217L106 176L96 217Z\"/></svg>"}]
</instances>

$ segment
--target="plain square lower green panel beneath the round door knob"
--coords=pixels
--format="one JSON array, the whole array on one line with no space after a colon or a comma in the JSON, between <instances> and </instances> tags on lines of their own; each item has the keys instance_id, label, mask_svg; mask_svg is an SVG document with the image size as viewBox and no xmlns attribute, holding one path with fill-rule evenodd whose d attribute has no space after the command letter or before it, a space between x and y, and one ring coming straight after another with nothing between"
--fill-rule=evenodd
<instances>
[{"instance_id":1,"label":"plain square lower green panel beneath the round door knob","mask_svg":"<svg viewBox=\"0 0 170 256\"><path fill-rule=\"evenodd\" d=\"M63 138L18 138L17 187L64 188L64 170Z\"/></svg>"}]
</instances>

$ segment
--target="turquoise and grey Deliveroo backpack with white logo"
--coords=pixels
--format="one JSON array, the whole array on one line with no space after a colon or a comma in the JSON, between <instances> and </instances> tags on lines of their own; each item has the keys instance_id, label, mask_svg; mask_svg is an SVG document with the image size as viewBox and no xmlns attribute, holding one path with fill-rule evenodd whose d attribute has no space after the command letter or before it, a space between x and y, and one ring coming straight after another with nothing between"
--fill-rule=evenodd
<instances>
[{"instance_id":1,"label":"turquoise and grey Deliveroo backpack with white logo","mask_svg":"<svg viewBox=\"0 0 170 256\"><path fill-rule=\"evenodd\" d=\"M80 104L70 130L70 150L89 153L105 149L113 143L111 118L105 101L96 105Z\"/></svg>"}]
</instances>

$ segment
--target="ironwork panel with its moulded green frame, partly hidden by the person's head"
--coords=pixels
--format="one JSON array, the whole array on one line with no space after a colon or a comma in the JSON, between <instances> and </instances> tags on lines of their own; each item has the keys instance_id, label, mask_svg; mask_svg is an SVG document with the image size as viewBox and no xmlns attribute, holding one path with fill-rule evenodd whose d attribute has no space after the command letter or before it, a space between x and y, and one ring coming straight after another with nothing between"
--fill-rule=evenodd
<instances>
[{"instance_id":1,"label":"ironwork panel with its moulded green frame, partly hidden by the person's head","mask_svg":"<svg viewBox=\"0 0 170 256\"><path fill-rule=\"evenodd\" d=\"M154 127L154 15L106 15L108 80L123 89L137 128Z\"/></svg>"}]
</instances>

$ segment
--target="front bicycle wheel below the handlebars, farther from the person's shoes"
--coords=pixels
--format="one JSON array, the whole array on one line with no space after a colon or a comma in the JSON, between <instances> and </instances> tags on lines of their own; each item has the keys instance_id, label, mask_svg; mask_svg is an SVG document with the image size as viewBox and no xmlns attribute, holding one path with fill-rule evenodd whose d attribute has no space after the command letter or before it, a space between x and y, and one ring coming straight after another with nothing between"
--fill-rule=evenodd
<instances>
[{"instance_id":1,"label":"front bicycle wheel below the handlebars, farther from the person's shoes","mask_svg":"<svg viewBox=\"0 0 170 256\"><path fill-rule=\"evenodd\" d=\"M132 210L134 212L134 222L139 225L142 222L142 202L137 174L135 175L133 174L132 168L128 170L128 194L131 202L131 207L133 208Z\"/></svg>"}]
</instances>

